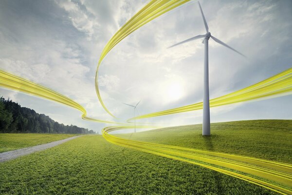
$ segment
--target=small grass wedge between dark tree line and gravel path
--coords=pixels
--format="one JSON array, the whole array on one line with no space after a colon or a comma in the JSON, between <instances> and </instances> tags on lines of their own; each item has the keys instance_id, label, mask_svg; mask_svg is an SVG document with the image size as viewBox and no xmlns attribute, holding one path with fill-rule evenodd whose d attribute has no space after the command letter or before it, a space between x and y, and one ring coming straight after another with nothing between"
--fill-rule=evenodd
<instances>
[{"instance_id":1,"label":"small grass wedge between dark tree line and gravel path","mask_svg":"<svg viewBox=\"0 0 292 195\"><path fill-rule=\"evenodd\" d=\"M0 153L57 141L74 134L0 134Z\"/></svg>"}]
</instances>

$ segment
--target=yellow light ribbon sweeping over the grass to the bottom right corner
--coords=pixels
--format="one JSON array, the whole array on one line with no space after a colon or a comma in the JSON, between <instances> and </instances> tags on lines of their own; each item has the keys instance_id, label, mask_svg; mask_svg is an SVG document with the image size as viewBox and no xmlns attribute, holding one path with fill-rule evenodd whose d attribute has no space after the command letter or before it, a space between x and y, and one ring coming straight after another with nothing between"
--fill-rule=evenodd
<instances>
[{"instance_id":1,"label":"yellow light ribbon sweeping over the grass to the bottom right corner","mask_svg":"<svg viewBox=\"0 0 292 195\"><path fill-rule=\"evenodd\" d=\"M112 131L129 128L131 127L106 127L102 130L102 135L110 143L119 146L200 165L257 184L280 194L292 194L291 164L248 156L134 141L109 134Z\"/></svg>"}]
</instances>

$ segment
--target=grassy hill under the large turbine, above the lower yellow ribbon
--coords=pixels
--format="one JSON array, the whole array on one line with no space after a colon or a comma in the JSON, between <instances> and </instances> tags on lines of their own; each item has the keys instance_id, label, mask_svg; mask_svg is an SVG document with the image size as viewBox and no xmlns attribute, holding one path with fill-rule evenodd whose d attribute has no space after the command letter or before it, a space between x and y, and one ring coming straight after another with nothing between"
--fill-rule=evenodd
<instances>
[{"instance_id":1,"label":"grassy hill under the large turbine, above the lower yellow ribbon","mask_svg":"<svg viewBox=\"0 0 292 195\"><path fill-rule=\"evenodd\" d=\"M202 137L201 129L187 125L118 136L292 163L292 120L213 123L211 137Z\"/></svg>"}]
</instances>

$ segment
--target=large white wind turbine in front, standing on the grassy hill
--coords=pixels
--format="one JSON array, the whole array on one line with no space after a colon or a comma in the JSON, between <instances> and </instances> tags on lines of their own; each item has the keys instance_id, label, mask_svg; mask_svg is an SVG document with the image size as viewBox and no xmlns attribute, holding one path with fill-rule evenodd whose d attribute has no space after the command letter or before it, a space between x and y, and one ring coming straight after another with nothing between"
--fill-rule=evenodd
<instances>
[{"instance_id":1,"label":"large white wind turbine in front, standing on the grassy hill","mask_svg":"<svg viewBox=\"0 0 292 195\"><path fill-rule=\"evenodd\" d=\"M238 52L237 50L233 49L232 47L230 47L229 45L227 45L226 43L222 42L221 40L213 37L211 35L211 33L209 32L209 27L207 24L207 21L205 19L205 16L203 14L203 10L201 8L201 4L198 1L199 6L200 6L200 10L201 10L201 14L202 14L202 18L204 20L204 24L205 24L205 28L206 28L206 34L205 35L198 35L195 37L192 37L190 39L186 39L182 42L176 43L170 47L174 47L186 42L189 42L191 40L196 40L196 39L201 39L204 38L203 42L204 43L204 47L205 47L205 54L204 54L204 89L203 89L203 129L202 129L202 135L203 136L210 136L210 103L209 103L209 62L208 62L208 42L209 39L212 38L213 40L215 40L216 42L218 42L219 44L235 51L236 53L240 54L241 56L245 57L243 54L241 54L240 52ZM169 48L170 48L169 47Z\"/></svg>"}]
</instances>

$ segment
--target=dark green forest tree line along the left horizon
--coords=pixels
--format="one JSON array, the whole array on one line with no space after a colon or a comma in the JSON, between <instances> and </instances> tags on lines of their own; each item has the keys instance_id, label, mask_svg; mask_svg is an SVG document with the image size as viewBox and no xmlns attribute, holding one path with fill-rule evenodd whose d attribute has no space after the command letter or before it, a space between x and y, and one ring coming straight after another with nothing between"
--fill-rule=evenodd
<instances>
[{"instance_id":1,"label":"dark green forest tree line along the left horizon","mask_svg":"<svg viewBox=\"0 0 292 195\"><path fill-rule=\"evenodd\" d=\"M94 134L94 131L60 124L44 114L21 107L9 98L0 97L0 133Z\"/></svg>"}]
</instances>

